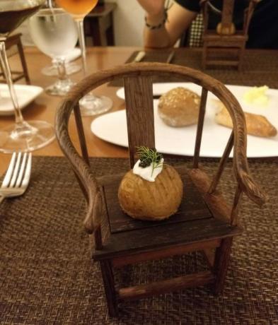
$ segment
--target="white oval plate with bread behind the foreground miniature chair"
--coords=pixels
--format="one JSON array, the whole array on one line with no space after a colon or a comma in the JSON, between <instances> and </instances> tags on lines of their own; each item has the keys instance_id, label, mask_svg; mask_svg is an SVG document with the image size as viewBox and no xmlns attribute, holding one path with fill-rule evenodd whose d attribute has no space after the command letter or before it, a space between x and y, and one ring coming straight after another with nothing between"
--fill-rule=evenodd
<instances>
[{"instance_id":1,"label":"white oval plate with bread behind the foreground miniature chair","mask_svg":"<svg viewBox=\"0 0 278 325\"><path fill-rule=\"evenodd\" d=\"M154 84L154 94L164 93L177 85L183 85L199 94L201 91L201 87L194 83L161 83ZM267 107L255 107L254 105L246 105L243 102L243 94L250 87L237 85L228 85L227 87L236 96L245 112L264 115L278 129L278 90L270 89L267 91L267 95L270 98L270 103ZM158 117L157 104L158 100L154 100L156 149L161 153L193 155L196 125L183 128L167 126ZM221 157L228 137L231 134L231 129L214 122L215 113L215 97L212 93L209 93L200 152L202 157ZM96 118L91 124L91 131L105 141L120 146L127 146L125 110L112 112ZM249 158L278 156L278 136L261 138L248 135L247 155Z\"/></svg>"}]
</instances>

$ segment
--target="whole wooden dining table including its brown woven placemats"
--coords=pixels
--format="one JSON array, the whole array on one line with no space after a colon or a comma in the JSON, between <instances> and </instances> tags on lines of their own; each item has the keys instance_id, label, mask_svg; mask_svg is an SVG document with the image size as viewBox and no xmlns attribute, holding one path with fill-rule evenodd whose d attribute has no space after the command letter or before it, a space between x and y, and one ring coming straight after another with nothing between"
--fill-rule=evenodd
<instances>
[{"instance_id":1,"label":"whole wooden dining table including its brown woven placemats","mask_svg":"<svg viewBox=\"0 0 278 325\"><path fill-rule=\"evenodd\" d=\"M173 49L141 47L88 47L88 73L132 62L144 50L143 61L166 62ZM46 88L55 77L42 75L50 57L35 47L25 47L31 85ZM170 64L202 69L202 48L175 48ZM17 55L9 57L11 70L20 69ZM76 59L81 64L81 59ZM268 85L278 89L278 51L245 50L243 71L234 67L212 67L206 73L230 85ZM78 83L83 74L70 76ZM163 82L163 80L157 80ZM171 80L172 81L172 80ZM175 81L173 79L173 81ZM169 82L169 80L167 80ZM95 95L112 99L112 110L123 110L117 97L121 83L108 83ZM63 98L42 92L25 107L28 121L41 119L54 124ZM278 104L278 103L277 103ZM278 107L277 107L278 110ZM109 113L109 112L108 112ZM96 175L124 172L129 168L128 150L103 141L91 132L97 117L82 117L88 155ZM0 116L0 129L14 122L13 115ZM69 120L71 140L79 148L74 115ZM56 140L33 152L33 169L28 190L18 199L0 206L0 323L3 324L277 324L277 245L278 245L278 158L248 159L250 172L267 193L269 202L260 209L247 197L241 203L243 235L233 244L231 266L224 294L215 297L209 288L195 288L161 295L151 300L120 305L120 320L109 319L100 270L90 259L88 235L82 220L86 203L69 162L63 158ZM11 159L0 153L0 175ZM170 162L189 163L190 157L169 157ZM201 158L212 173L219 159ZM235 182L233 163L228 160L221 189L232 202ZM186 190L186 189L185 189ZM167 278L173 273L195 271L202 256L181 256L151 261L124 269L117 280L128 282L148 277ZM168 260L167 260L168 261ZM169 262L169 261L168 261ZM150 271L153 270L153 271Z\"/></svg>"}]
</instances>

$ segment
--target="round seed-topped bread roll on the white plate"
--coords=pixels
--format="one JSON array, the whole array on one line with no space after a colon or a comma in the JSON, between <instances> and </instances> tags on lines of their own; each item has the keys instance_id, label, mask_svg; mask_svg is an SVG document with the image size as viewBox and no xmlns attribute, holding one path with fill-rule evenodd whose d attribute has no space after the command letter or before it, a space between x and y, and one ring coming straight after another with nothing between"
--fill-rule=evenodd
<instances>
[{"instance_id":1,"label":"round seed-topped bread roll on the white plate","mask_svg":"<svg viewBox=\"0 0 278 325\"><path fill-rule=\"evenodd\" d=\"M189 89L178 87L161 95L158 115L170 126L197 124L199 115L199 95Z\"/></svg>"}]
</instances>

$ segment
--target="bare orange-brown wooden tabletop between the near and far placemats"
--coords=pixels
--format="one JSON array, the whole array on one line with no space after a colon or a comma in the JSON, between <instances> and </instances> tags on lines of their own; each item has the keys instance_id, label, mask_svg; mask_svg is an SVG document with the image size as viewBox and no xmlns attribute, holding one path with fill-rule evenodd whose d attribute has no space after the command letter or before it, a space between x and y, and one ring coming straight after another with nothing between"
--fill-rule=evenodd
<instances>
[{"instance_id":1,"label":"bare orange-brown wooden tabletop between the near and far placemats","mask_svg":"<svg viewBox=\"0 0 278 325\"><path fill-rule=\"evenodd\" d=\"M88 72L93 73L99 69L108 69L112 66L123 64L127 61L128 57L134 52L134 47L93 47L88 48ZM42 88L46 88L47 85L54 83L55 78L44 76L41 73L41 69L51 64L49 57L39 52L34 47L28 47L25 49L25 59L27 61L28 71L32 85L39 85ZM19 66L18 56L11 57L9 59L11 68L21 69ZM75 61L81 64L81 59ZM72 80L79 81L82 78L82 73L75 73L70 76ZM113 100L112 110L119 110L123 108L124 100L117 98L115 87L109 87L103 85L99 89L95 90L95 93L100 95L107 95ZM50 96L46 93L42 93L34 102L25 107L23 110L24 119L41 119L50 123L54 123L54 116L59 102L62 98ZM86 132L86 138L91 145L88 147L88 153L91 157L127 157L127 149L115 146L110 143L106 143L94 136L90 131L90 125L93 117L83 117L84 129ZM4 126L8 126L14 122L13 116L3 117L0 116L0 129ZM74 129L74 119L70 121L70 130L74 143L78 143L77 134ZM55 140L49 146L36 150L33 155L63 155L59 148L57 141ZM11 155L0 153L0 175L4 173L8 166L8 162L11 159Z\"/></svg>"}]
</instances>

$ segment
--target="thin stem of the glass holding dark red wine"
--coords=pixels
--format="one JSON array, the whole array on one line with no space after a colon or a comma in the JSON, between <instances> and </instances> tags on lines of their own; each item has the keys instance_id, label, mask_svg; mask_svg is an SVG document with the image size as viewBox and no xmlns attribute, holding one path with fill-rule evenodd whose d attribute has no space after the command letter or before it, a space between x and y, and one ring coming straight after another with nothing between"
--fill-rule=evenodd
<instances>
[{"instance_id":1,"label":"thin stem of the glass holding dark red wine","mask_svg":"<svg viewBox=\"0 0 278 325\"><path fill-rule=\"evenodd\" d=\"M8 64L8 57L6 54L6 46L4 41L0 41L0 62L1 66L3 66L3 72L4 76L6 78L6 82L8 84L8 90L11 95L11 101L13 102L13 107L15 110L15 116L16 116L16 124L23 124L23 116L21 114L21 110L18 106L18 98L16 97L16 90L13 87L13 78L11 76L11 69Z\"/></svg>"}]
</instances>

